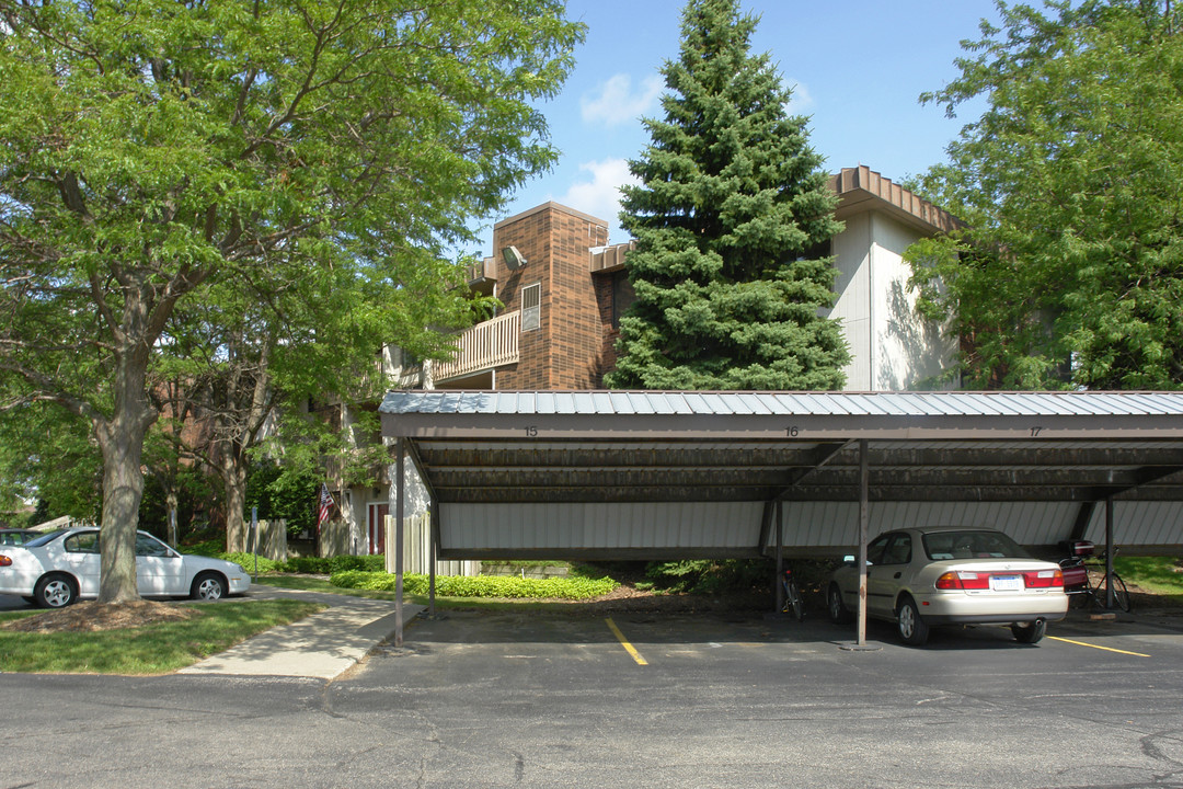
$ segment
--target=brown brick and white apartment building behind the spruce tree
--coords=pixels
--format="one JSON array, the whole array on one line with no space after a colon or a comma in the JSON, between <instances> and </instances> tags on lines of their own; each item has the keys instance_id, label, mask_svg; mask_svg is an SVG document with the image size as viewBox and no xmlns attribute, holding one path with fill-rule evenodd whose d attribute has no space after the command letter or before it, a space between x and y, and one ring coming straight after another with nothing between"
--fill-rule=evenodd
<instances>
[{"instance_id":1,"label":"brown brick and white apartment building behind the spruce tree","mask_svg":"<svg viewBox=\"0 0 1183 789\"><path fill-rule=\"evenodd\" d=\"M865 166L842 169L830 186L846 226L830 241L839 277L829 312L851 348L846 389L956 388L946 375L956 347L916 313L903 253L958 220ZM607 220L556 202L509 216L493 227L493 254L468 272L470 287L504 304L499 313L458 335L450 362L403 363L397 349L387 349L383 367L409 388L602 388L632 299L625 272L632 247L609 242ZM388 497L386 480L341 492L347 531L337 551L382 551ZM408 512L426 506L426 493L420 497L412 493Z\"/></svg>"}]
</instances>

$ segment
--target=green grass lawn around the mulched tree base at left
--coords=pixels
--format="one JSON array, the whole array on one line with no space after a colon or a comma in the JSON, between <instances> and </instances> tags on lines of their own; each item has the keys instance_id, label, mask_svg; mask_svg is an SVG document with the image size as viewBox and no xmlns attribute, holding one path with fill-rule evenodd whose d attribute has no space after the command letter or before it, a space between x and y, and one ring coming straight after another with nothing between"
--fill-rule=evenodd
<instances>
[{"instance_id":1,"label":"green grass lawn around the mulched tree base at left","mask_svg":"<svg viewBox=\"0 0 1183 789\"><path fill-rule=\"evenodd\" d=\"M203 612L186 621L96 633L18 633L0 629L0 671L163 674L222 652L276 625L325 606L300 600L189 603ZM0 615L0 623L38 612Z\"/></svg>"}]
</instances>

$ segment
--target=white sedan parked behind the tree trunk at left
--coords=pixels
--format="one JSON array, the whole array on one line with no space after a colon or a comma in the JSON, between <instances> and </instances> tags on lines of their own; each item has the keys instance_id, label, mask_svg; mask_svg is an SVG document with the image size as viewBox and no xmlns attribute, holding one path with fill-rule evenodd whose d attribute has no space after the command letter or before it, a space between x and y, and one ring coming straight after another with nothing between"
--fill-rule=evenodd
<instances>
[{"instance_id":1,"label":"white sedan parked behind the tree trunk at left","mask_svg":"<svg viewBox=\"0 0 1183 789\"><path fill-rule=\"evenodd\" d=\"M20 547L0 549L0 593L43 608L98 596L99 530L67 529ZM144 597L218 600L241 594L251 576L238 564L177 554L143 531L136 533L136 578Z\"/></svg>"}]
</instances>

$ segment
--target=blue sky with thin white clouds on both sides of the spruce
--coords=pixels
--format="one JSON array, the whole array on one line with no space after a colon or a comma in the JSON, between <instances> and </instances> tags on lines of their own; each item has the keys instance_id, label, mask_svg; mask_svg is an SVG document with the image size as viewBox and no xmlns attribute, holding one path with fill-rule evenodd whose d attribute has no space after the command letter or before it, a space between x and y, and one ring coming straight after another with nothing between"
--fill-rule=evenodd
<instances>
[{"instance_id":1,"label":"blue sky with thin white clouds on both sides of the spruce","mask_svg":"<svg viewBox=\"0 0 1183 789\"><path fill-rule=\"evenodd\" d=\"M627 160L648 143L642 116L660 116L659 70L675 58L681 0L568 0L568 18L588 26L575 70L541 104L562 151L548 175L519 189L491 218L478 254L492 254L492 222L556 200L610 222L613 244ZM794 112L810 117L809 140L832 172L866 164L899 181L944 160L944 148L972 119L945 118L918 97L957 75L963 39L978 21L997 21L994 0L741 0L761 17L755 52L769 52L795 90ZM981 111L981 110L978 110Z\"/></svg>"}]
</instances>

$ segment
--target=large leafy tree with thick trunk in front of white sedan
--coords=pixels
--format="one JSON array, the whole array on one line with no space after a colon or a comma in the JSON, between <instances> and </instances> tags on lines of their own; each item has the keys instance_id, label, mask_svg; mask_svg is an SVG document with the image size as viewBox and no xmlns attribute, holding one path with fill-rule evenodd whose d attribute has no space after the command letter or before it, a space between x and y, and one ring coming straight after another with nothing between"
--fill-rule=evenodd
<instances>
[{"instance_id":1,"label":"large leafy tree with thick trunk in front of white sedan","mask_svg":"<svg viewBox=\"0 0 1183 789\"><path fill-rule=\"evenodd\" d=\"M0 0L0 407L90 426L101 600L136 596L156 380L311 387L471 319L444 251L554 160L531 102L581 34L560 0Z\"/></svg>"}]
</instances>

